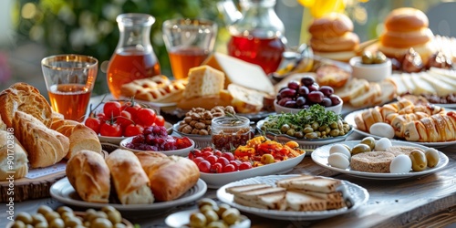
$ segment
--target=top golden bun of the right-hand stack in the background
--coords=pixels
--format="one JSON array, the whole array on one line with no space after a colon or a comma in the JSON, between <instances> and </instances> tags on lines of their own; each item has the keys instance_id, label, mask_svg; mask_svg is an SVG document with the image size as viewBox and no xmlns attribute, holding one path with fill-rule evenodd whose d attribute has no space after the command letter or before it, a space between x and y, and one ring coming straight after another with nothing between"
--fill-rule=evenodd
<instances>
[{"instance_id":1,"label":"top golden bun of the right-hand stack in the background","mask_svg":"<svg viewBox=\"0 0 456 228\"><path fill-rule=\"evenodd\" d=\"M385 18L385 27L388 31L409 32L428 26L428 16L415 8L397 8Z\"/></svg>"}]
</instances>

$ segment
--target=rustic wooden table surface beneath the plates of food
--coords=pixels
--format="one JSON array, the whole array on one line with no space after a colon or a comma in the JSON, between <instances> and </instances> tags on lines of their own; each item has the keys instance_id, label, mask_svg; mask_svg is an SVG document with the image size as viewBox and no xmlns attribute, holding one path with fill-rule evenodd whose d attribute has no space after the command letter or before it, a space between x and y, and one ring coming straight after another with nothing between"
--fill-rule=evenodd
<instances>
[{"instance_id":1,"label":"rustic wooden table surface beneath the plates of food","mask_svg":"<svg viewBox=\"0 0 456 228\"><path fill-rule=\"evenodd\" d=\"M360 139L352 135L349 140ZM316 221L280 221L246 214L252 220L252 227L399 227L399 226L444 226L456 225L456 147L439 149L450 159L448 166L436 173L397 181L378 181L330 171L318 166L308 156L289 173L307 173L347 180L366 188L369 200L358 210ZM209 189L204 197L216 199L215 190ZM16 202L15 212L32 212L41 204L53 208L62 205L53 199ZM0 227L5 227L6 206L0 210ZM181 205L160 214L150 212L124 213L132 223L142 227L166 227L165 217L171 212L194 208L195 203ZM84 210L78 209L76 210ZM451 225L452 226L452 225Z\"/></svg>"}]
</instances>

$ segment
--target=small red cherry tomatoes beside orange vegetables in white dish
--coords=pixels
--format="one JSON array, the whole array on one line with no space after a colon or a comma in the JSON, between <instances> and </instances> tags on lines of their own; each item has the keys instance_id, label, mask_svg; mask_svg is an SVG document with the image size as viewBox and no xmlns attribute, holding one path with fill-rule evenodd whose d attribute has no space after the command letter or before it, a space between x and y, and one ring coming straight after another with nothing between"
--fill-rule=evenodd
<instances>
[{"instance_id":1,"label":"small red cherry tomatoes beside orange vegetables in white dish","mask_svg":"<svg viewBox=\"0 0 456 228\"><path fill-rule=\"evenodd\" d=\"M233 153L222 152L211 147L190 151L189 159L195 162L202 172L223 173L252 169L251 162L239 161L234 158Z\"/></svg>"}]
</instances>

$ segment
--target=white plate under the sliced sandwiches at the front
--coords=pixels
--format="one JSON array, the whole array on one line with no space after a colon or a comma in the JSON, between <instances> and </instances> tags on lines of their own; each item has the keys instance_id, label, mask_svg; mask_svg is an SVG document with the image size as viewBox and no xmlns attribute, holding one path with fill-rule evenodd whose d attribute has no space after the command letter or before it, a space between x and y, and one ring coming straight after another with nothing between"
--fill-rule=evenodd
<instances>
[{"instance_id":1,"label":"white plate under the sliced sandwiches at the front","mask_svg":"<svg viewBox=\"0 0 456 228\"><path fill-rule=\"evenodd\" d=\"M254 207L247 207L236 202L233 202L233 194L225 192L225 189L228 187L236 186L236 185L244 185L244 184L254 184L254 183L266 183L275 186L275 181L294 177L297 175L271 175L271 176L264 176L264 177L254 177L250 179L244 179L242 181L235 181L228 183L221 187L217 191L217 198L221 202L225 202L230 204L233 207L238 208L240 211L243 212L250 212L256 215L270 218L270 219L279 219L279 220L290 220L290 221L303 221L303 220L318 220L318 219L325 219L329 217L336 216L338 214L343 214L347 212L355 211L359 206L368 202L368 191L357 184L351 183L349 181L342 181L342 184L345 187L347 198L350 202L352 202L353 206L350 208L340 208L337 210L328 210L328 211L319 211L319 212L291 212L291 211L277 211L277 210L267 210L267 209L259 209ZM325 177L326 178L326 177Z\"/></svg>"}]
</instances>

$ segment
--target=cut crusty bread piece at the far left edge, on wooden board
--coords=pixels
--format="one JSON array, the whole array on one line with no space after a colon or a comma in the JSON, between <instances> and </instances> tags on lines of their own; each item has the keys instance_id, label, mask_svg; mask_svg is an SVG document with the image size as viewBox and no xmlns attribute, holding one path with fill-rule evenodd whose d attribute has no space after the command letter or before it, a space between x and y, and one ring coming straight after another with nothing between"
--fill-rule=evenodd
<instances>
[{"instance_id":1,"label":"cut crusty bread piece at the far left edge, on wooden board","mask_svg":"<svg viewBox=\"0 0 456 228\"><path fill-rule=\"evenodd\" d=\"M13 161L13 164L9 164L8 161ZM12 132L0 130L0 181L5 181L10 175L20 179L27 173L26 150Z\"/></svg>"}]
</instances>

